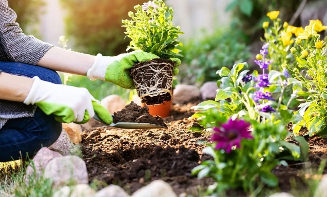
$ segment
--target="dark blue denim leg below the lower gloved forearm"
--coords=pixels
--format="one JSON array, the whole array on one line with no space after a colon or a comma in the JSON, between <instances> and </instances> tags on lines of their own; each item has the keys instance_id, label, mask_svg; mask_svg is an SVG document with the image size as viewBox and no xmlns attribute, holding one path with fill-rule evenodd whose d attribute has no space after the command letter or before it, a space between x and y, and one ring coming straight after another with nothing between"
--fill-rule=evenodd
<instances>
[{"instance_id":1,"label":"dark blue denim leg below the lower gloved forearm","mask_svg":"<svg viewBox=\"0 0 327 197\"><path fill-rule=\"evenodd\" d=\"M32 157L53 144L62 132L62 123L40 108L34 117L10 119L0 129L0 162Z\"/></svg>"}]
</instances>

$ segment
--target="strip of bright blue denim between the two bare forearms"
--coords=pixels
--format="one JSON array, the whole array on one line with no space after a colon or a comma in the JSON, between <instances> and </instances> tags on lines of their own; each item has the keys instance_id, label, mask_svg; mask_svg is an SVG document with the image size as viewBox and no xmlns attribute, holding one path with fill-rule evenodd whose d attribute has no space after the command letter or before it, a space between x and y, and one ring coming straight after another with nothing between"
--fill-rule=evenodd
<instances>
[{"instance_id":1,"label":"strip of bright blue denim between the two bare forearms","mask_svg":"<svg viewBox=\"0 0 327 197\"><path fill-rule=\"evenodd\" d=\"M62 84L59 74L51 69L20 62L0 61L0 70L5 73L29 78L38 76L41 80Z\"/></svg>"}]
</instances>

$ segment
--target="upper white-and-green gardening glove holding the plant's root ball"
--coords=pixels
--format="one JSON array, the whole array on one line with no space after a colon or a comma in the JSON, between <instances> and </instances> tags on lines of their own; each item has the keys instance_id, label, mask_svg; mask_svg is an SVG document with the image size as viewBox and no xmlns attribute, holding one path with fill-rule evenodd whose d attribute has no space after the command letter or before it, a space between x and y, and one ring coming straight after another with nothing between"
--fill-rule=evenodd
<instances>
[{"instance_id":1,"label":"upper white-and-green gardening glove holding the plant's root ball","mask_svg":"<svg viewBox=\"0 0 327 197\"><path fill-rule=\"evenodd\" d=\"M135 89L129 69L138 62L149 61L154 58L159 57L140 50L113 57L104 57L98 54L86 76L91 80L101 79L113 82L125 89ZM179 72L177 67L181 64L181 60L178 58L171 58L171 60L175 62L175 68L172 73L175 76Z\"/></svg>"}]
</instances>

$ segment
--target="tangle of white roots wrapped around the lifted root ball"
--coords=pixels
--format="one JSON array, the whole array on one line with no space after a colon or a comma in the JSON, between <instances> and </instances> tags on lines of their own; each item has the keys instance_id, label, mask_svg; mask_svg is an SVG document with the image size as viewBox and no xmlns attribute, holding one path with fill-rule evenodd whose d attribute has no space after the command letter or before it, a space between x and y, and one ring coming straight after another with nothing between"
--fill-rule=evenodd
<instances>
[{"instance_id":1,"label":"tangle of white roots wrapped around the lifted root ball","mask_svg":"<svg viewBox=\"0 0 327 197\"><path fill-rule=\"evenodd\" d=\"M152 62L134 69L131 75L135 76L134 84L139 97L143 100L146 96L155 97L167 93L171 96L173 69L173 65L165 62ZM150 79L146 79L147 76L150 76Z\"/></svg>"}]
</instances>

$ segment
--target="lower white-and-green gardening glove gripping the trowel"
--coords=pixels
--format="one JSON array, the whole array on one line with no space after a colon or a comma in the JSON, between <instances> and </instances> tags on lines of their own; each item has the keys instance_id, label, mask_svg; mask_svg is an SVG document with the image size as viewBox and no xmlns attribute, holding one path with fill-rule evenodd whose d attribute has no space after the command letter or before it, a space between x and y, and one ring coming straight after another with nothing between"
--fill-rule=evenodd
<instances>
[{"instance_id":1,"label":"lower white-and-green gardening glove gripping the trowel","mask_svg":"<svg viewBox=\"0 0 327 197\"><path fill-rule=\"evenodd\" d=\"M33 77L34 82L24 103L35 104L56 121L83 124L94 117L94 112L107 123L112 117L104 106L83 87L54 84Z\"/></svg>"}]
</instances>

